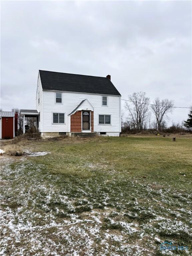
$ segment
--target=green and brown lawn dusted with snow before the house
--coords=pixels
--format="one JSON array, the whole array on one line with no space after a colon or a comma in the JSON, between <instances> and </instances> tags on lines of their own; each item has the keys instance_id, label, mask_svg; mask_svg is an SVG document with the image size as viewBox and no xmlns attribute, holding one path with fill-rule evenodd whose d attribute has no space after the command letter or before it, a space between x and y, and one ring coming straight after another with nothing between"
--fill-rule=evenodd
<instances>
[{"instance_id":1,"label":"green and brown lawn dusted with snow before the house","mask_svg":"<svg viewBox=\"0 0 192 256\"><path fill-rule=\"evenodd\" d=\"M51 154L2 165L8 255L22 248L31 255L162 255L163 241L192 250L192 138L66 138L24 146Z\"/></svg>"}]
</instances>

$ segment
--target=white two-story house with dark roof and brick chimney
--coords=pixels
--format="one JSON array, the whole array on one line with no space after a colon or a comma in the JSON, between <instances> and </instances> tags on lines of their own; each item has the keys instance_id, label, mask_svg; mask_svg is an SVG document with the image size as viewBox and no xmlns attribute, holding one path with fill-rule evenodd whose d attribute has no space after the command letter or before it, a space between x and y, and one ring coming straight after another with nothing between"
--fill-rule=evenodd
<instances>
[{"instance_id":1,"label":"white two-story house with dark roof and brick chimney","mask_svg":"<svg viewBox=\"0 0 192 256\"><path fill-rule=\"evenodd\" d=\"M119 136L121 95L111 77L39 70L36 110L42 137L72 133Z\"/></svg>"}]
</instances>

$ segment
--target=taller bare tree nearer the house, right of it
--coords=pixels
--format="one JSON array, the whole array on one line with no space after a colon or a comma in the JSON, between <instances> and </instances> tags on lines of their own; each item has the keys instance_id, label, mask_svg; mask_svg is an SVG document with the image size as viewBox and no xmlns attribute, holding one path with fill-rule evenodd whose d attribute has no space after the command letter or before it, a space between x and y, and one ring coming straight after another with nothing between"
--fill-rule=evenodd
<instances>
[{"instance_id":1,"label":"taller bare tree nearer the house, right of it","mask_svg":"<svg viewBox=\"0 0 192 256\"><path fill-rule=\"evenodd\" d=\"M131 101L131 106L128 101L125 103L125 108L129 110L130 119L135 124L136 130L142 130L143 125L148 118L149 98L145 92L135 92L128 96Z\"/></svg>"}]
</instances>

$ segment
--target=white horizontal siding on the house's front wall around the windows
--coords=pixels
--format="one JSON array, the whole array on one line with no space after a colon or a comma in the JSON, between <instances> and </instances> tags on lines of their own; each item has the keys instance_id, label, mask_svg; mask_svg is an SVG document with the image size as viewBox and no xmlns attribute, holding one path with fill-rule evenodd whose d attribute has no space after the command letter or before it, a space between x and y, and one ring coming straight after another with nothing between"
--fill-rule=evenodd
<instances>
[{"instance_id":1,"label":"white horizontal siding on the house's front wall around the windows","mask_svg":"<svg viewBox=\"0 0 192 256\"><path fill-rule=\"evenodd\" d=\"M62 104L55 104L55 97L55 91L43 91L43 132L70 132L71 117L68 115L84 99L89 102L85 101L78 110L94 111L94 132L121 131L120 96L108 95L107 108L102 106L99 94L62 92ZM66 125L53 124L53 113L65 113ZM111 115L111 125L99 125L99 115Z\"/></svg>"}]
</instances>

